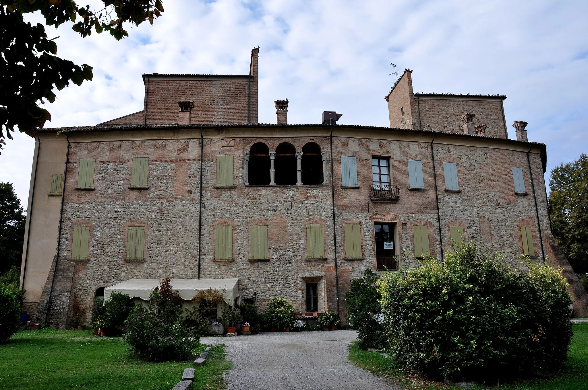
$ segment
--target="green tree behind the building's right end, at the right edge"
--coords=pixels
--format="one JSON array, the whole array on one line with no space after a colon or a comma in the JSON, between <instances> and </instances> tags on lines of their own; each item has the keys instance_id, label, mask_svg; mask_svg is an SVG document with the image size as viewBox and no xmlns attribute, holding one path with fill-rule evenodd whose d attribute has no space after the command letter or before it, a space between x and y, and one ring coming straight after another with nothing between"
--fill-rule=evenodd
<instances>
[{"instance_id":1,"label":"green tree behind the building's right end, at the right edge","mask_svg":"<svg viewBox=\"0 0 588 390\"><path fill-rule=\"evenodd\" d=\"M574 271L588 271L588 156L552 169L549 199L553 236Z\"/></svg>"}]
</instances>

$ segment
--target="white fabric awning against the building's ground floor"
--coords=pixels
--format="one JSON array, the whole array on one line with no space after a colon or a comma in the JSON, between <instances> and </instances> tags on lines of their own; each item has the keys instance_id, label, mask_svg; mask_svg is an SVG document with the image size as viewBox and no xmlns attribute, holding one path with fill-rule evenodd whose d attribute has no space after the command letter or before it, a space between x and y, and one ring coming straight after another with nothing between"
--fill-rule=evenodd
<instances>
[{"instance_id":1,"label":"white fabric awning against the building's ground floor","mask_svg":"<svg viewBox=\"0 0 588 390\"><path fill-rule=\"evenodd\" d=\"M113 291L129 294L131 298L149 300L149 293L159 285L159 279L129 279L104 289L104 301L108 301ZM239 279L171 279L173 290L178 290L180 297L191 301L200 290L222 291L223 300L229 305L235 305L235 298L239 296Z\"/></svg>"}]
</instances>

